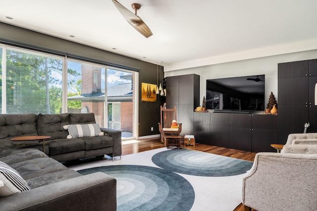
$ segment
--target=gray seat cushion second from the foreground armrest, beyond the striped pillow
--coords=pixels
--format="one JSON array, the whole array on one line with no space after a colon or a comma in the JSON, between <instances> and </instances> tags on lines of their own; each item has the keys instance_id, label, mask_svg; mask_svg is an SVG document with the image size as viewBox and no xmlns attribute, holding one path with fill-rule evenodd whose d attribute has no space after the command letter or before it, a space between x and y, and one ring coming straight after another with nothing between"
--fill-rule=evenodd
<instances>
[{"instance_id":1,"label":"gray seat cushion second from the foreground armrest, beyond the striped pillow","mask_svg":"<svg viewBox=\"0 0 317 211\"><path fill-rule=\"evenodd\" d=\"M53 158L36 158L10 165L20 173L23 179L38 177L55 171L65 170L67 167Z\"/></svg>"}]
</instances>

